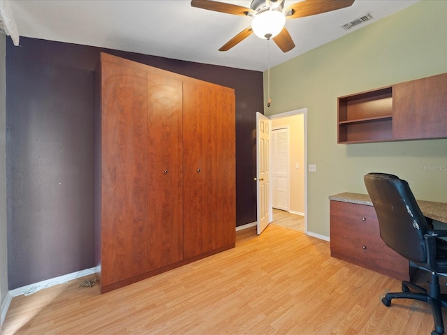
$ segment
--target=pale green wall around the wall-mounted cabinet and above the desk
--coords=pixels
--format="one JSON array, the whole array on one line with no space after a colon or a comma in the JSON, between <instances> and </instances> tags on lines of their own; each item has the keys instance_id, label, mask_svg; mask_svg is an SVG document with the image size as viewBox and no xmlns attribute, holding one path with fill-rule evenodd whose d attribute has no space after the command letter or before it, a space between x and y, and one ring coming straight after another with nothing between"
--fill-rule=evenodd
<instances>
[{"instance_id":1,"label":"pale green wall around the wall-mounted cabinet and above the desk","mask_svg":"<svg viewBox=\"0 0 447 335\"><path fill-rule=\"evenodd\" d=\"M272 68L265 114L308 108L307 163L317 165L307 174L311 234L329 236L328 196L366 193L367 172L397 174L417 199L447 202L446 139L337 144L338 96L447 73L446 14L447 1L421 1Z\"/></svg>"}]
</instances>

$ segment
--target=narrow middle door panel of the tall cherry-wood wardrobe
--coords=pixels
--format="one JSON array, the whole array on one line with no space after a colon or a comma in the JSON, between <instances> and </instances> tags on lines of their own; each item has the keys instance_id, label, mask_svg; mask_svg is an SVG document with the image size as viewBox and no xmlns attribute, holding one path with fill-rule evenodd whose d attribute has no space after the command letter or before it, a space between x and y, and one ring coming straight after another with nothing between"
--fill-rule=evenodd
<instances>
[{"instance_id":1,"label":"narrow middle door panel of the tall cherry-wood wardrobe","mask_svg":"<svg viewBox=\"0 0 447 335\"><path fill-rule=\"evenodd\" d=\"M148 270L183 259L182 82L147 77Z\"/></svg>"}]
</instances>

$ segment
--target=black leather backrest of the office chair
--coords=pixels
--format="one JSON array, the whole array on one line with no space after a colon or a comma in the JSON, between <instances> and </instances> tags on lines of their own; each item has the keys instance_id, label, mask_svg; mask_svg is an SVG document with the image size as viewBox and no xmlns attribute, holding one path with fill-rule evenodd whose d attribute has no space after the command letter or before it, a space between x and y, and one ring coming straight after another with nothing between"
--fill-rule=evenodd
<instances>
[{"instance_id":1,"label":"black leather backrest of the office chair","mask_svg":"<svg viewBox=\"0 0 447 335\"><path fill-rule=\"evenodd\" d=\"M366 174L364 180L379 219L381 239L404 258L427 262L424 240L427 221L409 184L384 173Z\"/></svg>"}]
</instances>

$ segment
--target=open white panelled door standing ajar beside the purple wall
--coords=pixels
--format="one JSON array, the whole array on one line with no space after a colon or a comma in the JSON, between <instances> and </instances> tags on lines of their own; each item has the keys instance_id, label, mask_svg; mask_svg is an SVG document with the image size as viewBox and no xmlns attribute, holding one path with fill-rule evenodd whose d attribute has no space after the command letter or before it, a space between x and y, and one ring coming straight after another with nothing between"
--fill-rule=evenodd
<instances>
[{"instance_id":1,"label":"open white panelled door standing ajar beside the purple wall","mask_svg":"<svg viewBox=\"0 0 447 335\"><path fill-rule=\"evenodd\" d=\"M272 222L270 196L270 136L272 121L256 112L256 191L258 234Z\"/></svg>"}]
</instances>

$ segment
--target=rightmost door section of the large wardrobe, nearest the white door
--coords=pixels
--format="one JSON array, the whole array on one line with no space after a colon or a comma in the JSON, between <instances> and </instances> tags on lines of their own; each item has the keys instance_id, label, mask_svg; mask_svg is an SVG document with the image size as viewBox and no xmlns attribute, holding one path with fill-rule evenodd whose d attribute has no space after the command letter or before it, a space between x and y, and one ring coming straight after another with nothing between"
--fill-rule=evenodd
<instances>
[{"instance_id":1,"label":"rightmost door section of the large wardrobe, nearest the white door","mask_svg":"<svg viewBox=\"0 0 447 335\"><path fill-rule=\"evenodd\" d=\"M235 243L234 94L184 82L184 258Z\"/></svg>"}]
</instances>

